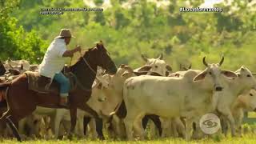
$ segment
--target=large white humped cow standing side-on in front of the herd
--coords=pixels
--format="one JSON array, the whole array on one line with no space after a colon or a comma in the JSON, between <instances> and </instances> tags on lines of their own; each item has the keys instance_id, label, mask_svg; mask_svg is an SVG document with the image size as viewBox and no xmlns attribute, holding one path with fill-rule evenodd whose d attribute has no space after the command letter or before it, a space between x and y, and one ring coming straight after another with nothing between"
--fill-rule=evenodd
<instances>
[{"instance_id":1,"label":"large white humped cow standing side-on in front of the herd","mask_svg":"<svg viewBox=\"0 0 256 144\"><path fill-rule=\"evenodd\" d=\"M143 75L128 78L123 86L123 99L127 115L124 119L128 139L133 139L133 126L142 131L142 118L145 114L157 114L162 118L186 117L186 139L190 139L192 121L197 116L214 110L209 103L213 90L221 91L220 79L237 77L230 71L220 70L219 64L208 65L197 74L188 70L182 78L155 77ZM198 121L198 119L197 119ZM139 134L143 138L143 133Z\"/></svg>"}]
</instances>

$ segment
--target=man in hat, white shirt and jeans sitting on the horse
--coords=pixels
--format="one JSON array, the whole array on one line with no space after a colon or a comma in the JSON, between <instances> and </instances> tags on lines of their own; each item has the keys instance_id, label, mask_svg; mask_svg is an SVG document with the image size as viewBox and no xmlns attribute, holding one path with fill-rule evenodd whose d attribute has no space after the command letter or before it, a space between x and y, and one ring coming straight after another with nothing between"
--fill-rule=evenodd
<instances>
[{"instance_id":1,"label":"man in hat, white shirt and jeans sitting on the horse","mask_svg":"<svg viewBox=\"0 0 256 144\"><path fill-rule=\"evenodd\" d=\"M38 70L42 77L50 78L51 81L55 80L59 83L61 96L59 105L61 106L67 105L67 97L70 90L70 80L62 74L66 57L73 57L75 52L81 51L80 46L76 46L73 50L67 50L66 46L70 44L71 37L73 36L69 29L62 29L47 48Z\"/></svg>"}]
</instances>

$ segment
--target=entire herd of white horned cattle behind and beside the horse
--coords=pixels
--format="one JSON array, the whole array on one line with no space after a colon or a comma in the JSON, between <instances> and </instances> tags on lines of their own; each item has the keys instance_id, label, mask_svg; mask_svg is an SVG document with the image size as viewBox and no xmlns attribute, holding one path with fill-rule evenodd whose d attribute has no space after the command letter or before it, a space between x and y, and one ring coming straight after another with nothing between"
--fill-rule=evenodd
<instances>
[{"instance_id":1,"label":"entire herd of white horned cattle behind and beside the horse","mask_svg":"<svg viewBox=\"0 0 256 144\"><path fill-rule=\"evenodd\" d=\"M98 67L87 103L101 116L103 129L110 138L144 139L149 119L153 121L151 134L186 140L204 138L207 134L200 129L199 120L208 113L218 115L222 127L229 126L232 136L242 134L244 112L256 110L256 79L245 66L234 72L222 70L224 58L216 64L208 64L203 58L205 70L180 66L174 72L162 54L158 58L142 54L142 59L146 64L138 69L122 64L114 75L105 74ZM28 70L37 71L38 65L30 65L26 60L1 62L0 82L11 81ZM0 98L0 113L6 109L5 98ZM99 130L90 114L78 110L77 117L78 137L97 138ZM38 106L33 114L18 122L18 131L24 138L61 138L69 130L70 111L66 109ZM226 134L227 130L222 132ZM2 138L12 137L3 123L0 134Z\"/></svg>"}]
</instances>

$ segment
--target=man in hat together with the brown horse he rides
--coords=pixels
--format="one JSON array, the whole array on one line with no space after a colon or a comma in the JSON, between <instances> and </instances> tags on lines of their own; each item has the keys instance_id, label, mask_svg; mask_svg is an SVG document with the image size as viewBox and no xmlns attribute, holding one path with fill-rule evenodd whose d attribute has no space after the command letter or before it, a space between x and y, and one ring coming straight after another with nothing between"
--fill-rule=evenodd
<instances>
[{"instance_id":1,"label":"man in hat together with the brown horse he rides","mask_svg":"<svg viewBox=\"0 0 256 144\"><path fill-rule=\"evenodd\" d=\"M84 110L92 115L96 123L102 123L102 118L100 118L98 113L88 106L86 102L91 96L91 88L94 79L96 78L97 66L101 66L105 69L107 74L115 74L117 72L117 67L114 64L114 61L110 58L103 43L98 42L96 46L86 50L84 54L81 54L78 61L69 67L69 74L71 74L70 79L72 79L72 82L69 82L69 80L67 80L61 73L65 63L63 57L70 57L76 51L81 50L79 46L74 50L66 50L66 45L69 44L71 37L70 30L64 29L61 31L59 36L55 38L54 42L48 47L45 58L39 68L39 73L26 72L25 74L20 74L18 78L15 78L11 82L0 83L0 92L6 92L6 102L8 106L7 111L2 114L0 122L7 122L13 131L13 134L19 141L21 141L21 138L16 129L19 120L32 114L37 106L63 108L63 106L59 106L59 103L65 105L68 95L70 95L68 97L68 108L70 110L71 120L70 136L74 134L77 109ZM40 78L42 81L40 81ZM41 90L42 83L45 83L46 79L47 82L49 79L51 81L53 79L55 80L48 90ZM61 85L61 101L59 100L59 91L57 91L57 93L55 91L58 88L55 81L59 82ZM74 84L74 87L70 86L70 83L72 85ZM70 87L73 90L69 91ZM101 128L101 126L96 126L96 129L99 128Z\"/></svg>"}]
</instances>

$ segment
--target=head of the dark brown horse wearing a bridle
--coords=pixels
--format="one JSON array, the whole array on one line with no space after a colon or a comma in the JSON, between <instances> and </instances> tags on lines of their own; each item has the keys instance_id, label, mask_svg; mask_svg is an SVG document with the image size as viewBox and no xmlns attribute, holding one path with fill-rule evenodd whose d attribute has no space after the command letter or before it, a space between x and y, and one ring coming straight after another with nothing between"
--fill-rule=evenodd
<instances>
[{"instance_id":1,"label":"head of the dark brown horse wearing a bridle","mask_svg":"<svg viewBox=\"0 0 256 144\"><path fill-rule=\"evenodd\" d=\"M96 47L91 50L90 54L92 54L92 58L94 58L95 65L102 66L109 74L115 74L117 72L117 67L110 58L106 48L103 46L102 41L96 44Z\"/></svg>"}]
</instances>

